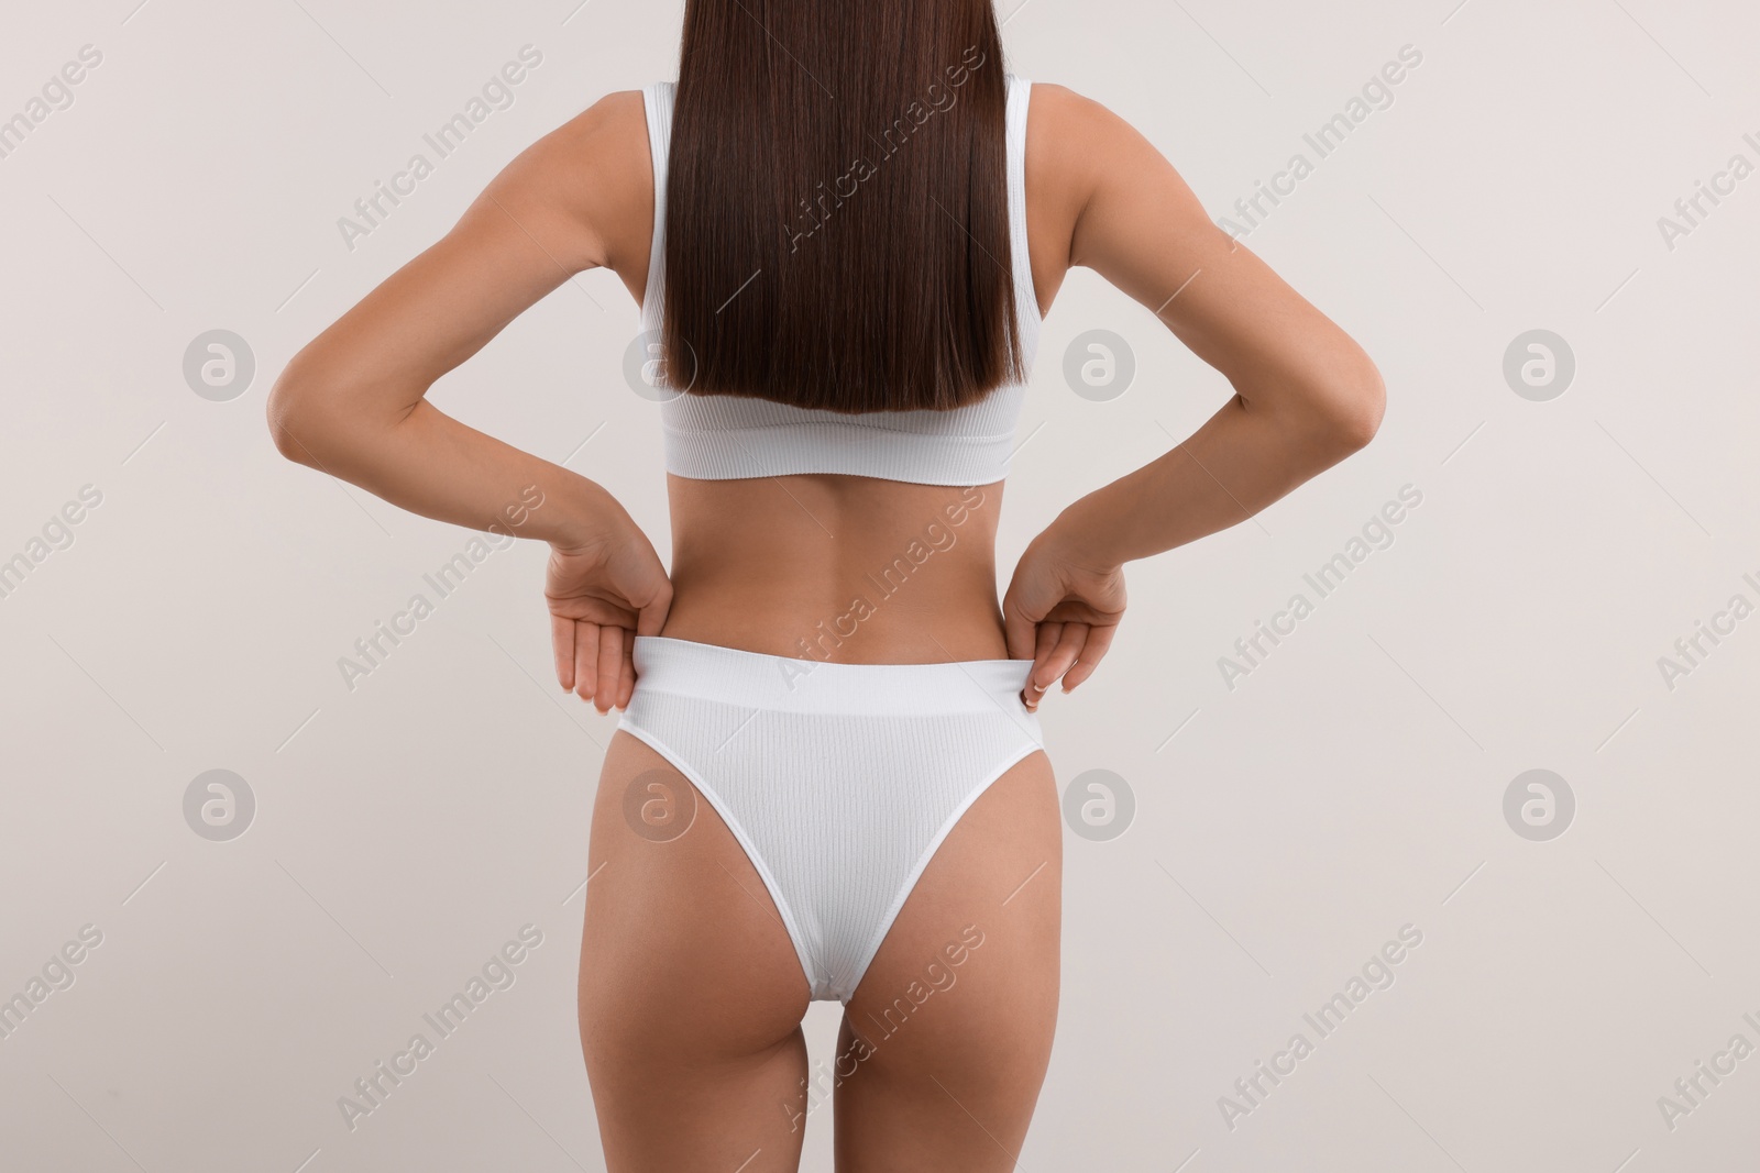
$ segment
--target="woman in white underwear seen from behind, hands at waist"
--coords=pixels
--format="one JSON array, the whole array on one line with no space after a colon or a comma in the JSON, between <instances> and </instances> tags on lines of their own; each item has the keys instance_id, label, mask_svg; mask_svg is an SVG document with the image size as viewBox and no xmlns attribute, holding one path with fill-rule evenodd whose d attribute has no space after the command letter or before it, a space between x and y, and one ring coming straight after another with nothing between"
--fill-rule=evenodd
<instances>
[{"instance_id":1,"label":"woman in white underwear seen from behind, hands at waist","mask_svg":"<svg viewBox=\"0 0 1760 1173\"><path fill-rule=\"evenodd\" d=\"M605 489L424 399L595 266L671 396L671 575ZM1236 396L1063 510L998 608L1003 471L1072 266ZM1360 448L1382 383L1125 121L1005 76L989 0L688 0L676 88L519 155L269 417L294 461L551 543L558 681L621 710L581 948L607 1166L794 1169L829 1099L845 1173L972 1173L1014 1168L1056 1018L1040 698L1095 672L1125 563ZM820 1073L811 999L845 1004Z\"/></svg>"}]
</instances>

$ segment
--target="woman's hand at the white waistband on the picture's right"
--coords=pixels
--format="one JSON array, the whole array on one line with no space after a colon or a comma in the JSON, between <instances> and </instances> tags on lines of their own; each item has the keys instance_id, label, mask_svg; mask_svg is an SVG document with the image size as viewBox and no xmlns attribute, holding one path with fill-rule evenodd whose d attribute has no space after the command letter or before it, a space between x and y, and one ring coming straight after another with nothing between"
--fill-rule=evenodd
<instances>
[{"instance_id":1,"label":"woman's hand at the white waistband on the picture's right","mask_svg":"<svg viewBox=\"0 0 1760 1173\"><path fill-rule=\"evenodd\" d=\"M1038 709L1058 679L1068 693L1093 675L1125 617L1125 568L1096 566L1052 522L1028 543L1001 598L1012 659L1033 659L1021 700Z\"/></svg>"}]
</instances>

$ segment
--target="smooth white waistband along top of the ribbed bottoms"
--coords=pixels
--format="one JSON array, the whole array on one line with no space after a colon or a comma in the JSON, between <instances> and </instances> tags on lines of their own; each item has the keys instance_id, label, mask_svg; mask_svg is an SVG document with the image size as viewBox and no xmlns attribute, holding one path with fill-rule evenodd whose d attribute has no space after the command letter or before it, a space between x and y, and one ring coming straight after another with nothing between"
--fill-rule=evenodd
<instances>
[{"instance_id":1,"label":"smooth white waistband along top of the ribbed bottoms","mask_svg":"<svg viewBox=\"0 0 1760 1173\"><path fill-rule=\"evenodd\" d=\"M1017 725L1038 728L1038 714L1021 702L1031 659L822 663L662 635L637 635L632 658L637 695L646 689L746 709L855 716L1001 709Z\"/></svg>"}]
</instances>

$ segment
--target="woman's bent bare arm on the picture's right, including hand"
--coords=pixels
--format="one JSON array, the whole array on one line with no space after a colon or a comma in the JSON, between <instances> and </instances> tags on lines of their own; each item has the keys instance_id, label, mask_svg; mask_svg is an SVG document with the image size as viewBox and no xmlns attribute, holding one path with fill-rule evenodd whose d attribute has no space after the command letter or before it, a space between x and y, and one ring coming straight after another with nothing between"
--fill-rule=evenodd
<instances>
[{"instance_id":1,"label":"woman's bent bare arm on the picture's right, including hand","mask_svg":"<svg viewBox=\"0 0 1760 1173\"><path fill-rule=\"evenodd\" d=\"M1165 455L1072 503L1023 554L1003 617L1008 654L1035 659L1030 705L1054 681L1068 691L1093 674L1126 561L1246 521L1369 443L1385 404L1362 346L1218 229L1130 123L1061 86L1033 93L1028 158L1045 160L1079 208L1070 266L1151 310L1234 397Z\"/></svg>"}]
</instances>

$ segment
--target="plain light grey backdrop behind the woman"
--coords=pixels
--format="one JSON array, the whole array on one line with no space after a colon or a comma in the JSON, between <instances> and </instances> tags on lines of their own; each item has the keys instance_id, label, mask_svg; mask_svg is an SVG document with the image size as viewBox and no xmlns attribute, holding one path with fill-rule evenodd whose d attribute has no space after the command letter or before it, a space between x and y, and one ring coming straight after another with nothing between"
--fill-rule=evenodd
<instances>
[{"instance_id":1,"label":"plain light grey backdrop behind the woman","mask_svg":"<svg viewBox=\"0 0 1760 1173\"><path fill-rule=\"evenodd\" d=\"M574 1027L586 828L612 719L549 681L544 550L488 557L350 691L336 661L472 538L282 461L287 357L438 237L523 146L676 74L679 5L106 0L23 5L0 116L102 63L0 158L0 559L83 485L74 542L0 598L0 997L102 944L0 1039L9 1169L598 1169ZM1670 688L1658 659L1760 603L1760 176L1670 248L1658 218L1760 162L1760 12L1735 0L1003 4L1008 69L1091 95L1232 216L1401 46L1422 63L1244 239L1380 364L1376 441L1257 521L1130 568L1102 672L1044 725L1126 834L1068 835L1063 1009L1021 1168L1695 1173L1751 1168L1760 1055L1760 617ZM521 46L542 63L350 250L340 216ZM1063 380L1123 336L1126 394ZM185 348L257 361L209 401ZM584 274L435 389L609 485L667 549L635 310ZM1536 403L1505 348L1554 331ZM1000 559L1197 427L1225 382L1074 273L1045 324ZM1035 431L1037 429L1037 431ZM1422 492L1230 689L1218 668L1401 485ZM1711 647L1705 644L1705 647ZM185 791L246 779L248 830ZM1551 841L1517 774L1575 795ZM357 1076L521 925L542 946L350 1131ZM1403 925L1422 944L1325 1039ZM836 1006L808 1018L815 1062ZM1244 1117L1220 1099L1313 1053ZM1244 1101L1241 1101L1244 1103ZM1684 1101L1683 1101L1684 1103ZM808 1169L829 1168L829 1111Z\"/></svg>"}]
</instances>

